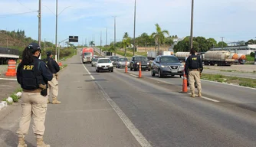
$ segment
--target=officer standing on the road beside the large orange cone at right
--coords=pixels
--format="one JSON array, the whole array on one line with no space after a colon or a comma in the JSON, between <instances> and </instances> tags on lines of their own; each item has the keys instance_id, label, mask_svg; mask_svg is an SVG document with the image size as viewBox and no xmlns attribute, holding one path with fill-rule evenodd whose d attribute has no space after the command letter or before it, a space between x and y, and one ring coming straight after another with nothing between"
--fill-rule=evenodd
<instances>
[{"instance_id":1,"label":"officer standing on the road beside the large orange cone at right","mask_svg":"<svg viewBox=\"0 0 256 147\"><path fill-rule=\"evenodd\" d=\"M190 56L185 61L185 74L189 77L189 87L191 92L191 97L195 97L195 82L197 84L198 96L202 96L201 87L201 74L202 74L202 60L200 56L195 55L195 49L191 49Z\"/></svg>"}]
</instances>

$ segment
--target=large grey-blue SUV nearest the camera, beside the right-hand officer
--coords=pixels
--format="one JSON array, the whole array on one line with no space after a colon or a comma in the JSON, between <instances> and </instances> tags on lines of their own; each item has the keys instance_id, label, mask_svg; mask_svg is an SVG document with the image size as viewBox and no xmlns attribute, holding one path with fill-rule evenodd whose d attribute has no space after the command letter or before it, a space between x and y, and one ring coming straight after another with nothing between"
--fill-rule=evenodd
<instances>
[{"instance_id":1,"label":"large grey-blue SUV nearest the camera, beside the right-hand officer","mask_svg":"<svg viewBox=\"0 0 256 147\"><path fill-rule=\"evenodd\" d=\"M151 76L154 77L155 74L158 74L158 77L165 77L167 75L179 75L182 77L184 68L184 65L175 56L157 56L153 61Z\"/></svg>"}]
</instances>

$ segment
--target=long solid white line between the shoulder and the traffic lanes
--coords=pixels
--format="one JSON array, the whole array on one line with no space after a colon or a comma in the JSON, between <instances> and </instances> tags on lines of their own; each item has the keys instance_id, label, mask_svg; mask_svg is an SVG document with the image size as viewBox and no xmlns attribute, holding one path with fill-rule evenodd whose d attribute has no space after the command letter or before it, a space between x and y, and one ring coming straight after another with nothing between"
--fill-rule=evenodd
<instances>
[{"instance_id":1,"label":"long solid white line between the shoulder and the traffic lanes","mask_svg":"<svg viewBox=\"0 0 256 147\"><path fill-rule=\"evenodd\" d=\"M83 64L83 63L82 63ZM83 64L84 66L84 64ZM84 66L84 69L87 70L87 67ZM90 72L87 70L87 72L90 74ZM93 79L94 77L91 76ZM97 81L95 81L97 83ZM126 116L125 113L123 113L122 109L120 109L119 106L117 106L117 103L115 103L110 96L103 90L103 87L100 86L99 83L97 83L98 87L100 87L100 91L103 93L104 98L107 100L108 103L110 103L110 106L113 108L113 110L117 113L117 115L120 117L120 119L123 121L123 123L126 125L127 129L130 130L130 132L133 134L134 138L139 142L139 145L142 147L152 147L150 143L146 140L146 138L143 136L141 132L139 132L139 129L136 129L136 126L133 125L132 121Z\"/></svg>"}]
</instances>

